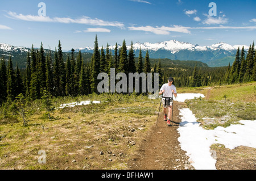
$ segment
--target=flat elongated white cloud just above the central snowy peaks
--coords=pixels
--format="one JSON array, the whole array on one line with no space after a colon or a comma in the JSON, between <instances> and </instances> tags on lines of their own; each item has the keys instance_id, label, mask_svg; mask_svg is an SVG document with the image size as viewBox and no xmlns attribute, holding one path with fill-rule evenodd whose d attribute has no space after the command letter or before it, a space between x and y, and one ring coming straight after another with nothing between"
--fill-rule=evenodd
<instances>
[{"instance_id":1,"label":"flat elongated white cloud just above the central snowy peaks","mask_svg":"<svg viewBox=\"0 0 256 181\"><path fill-rule=\"evenodd\" d=\"M182 32L182 33L190 33L187 28L183 26L174 25L174 27L152 27L152 26L141 26L141 27L128 27L131 31L146 31L152 32L156 35L170 35L170 32Z\"/></svg>"}]
</instances>

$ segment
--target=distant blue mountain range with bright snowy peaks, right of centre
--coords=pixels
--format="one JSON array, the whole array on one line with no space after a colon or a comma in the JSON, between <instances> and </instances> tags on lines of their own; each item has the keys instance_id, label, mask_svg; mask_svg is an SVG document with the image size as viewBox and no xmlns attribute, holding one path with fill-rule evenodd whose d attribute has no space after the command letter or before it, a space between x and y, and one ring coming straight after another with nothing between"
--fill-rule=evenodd
<instances>
[{"instance_id":1,"label":"distant blue mountain range with bright snowy peaks, right of centre","mask_svg":"<svg viewBox=\"0 0 256 181\"><path fill-rule=\"evenodd\" d=\"M130 49L131 45L127 46L127 49ZM135 43L133 44L133 49L135 56L139 56L139 49L142 50L142 55L146 55L146 51L150 55L150 58L169 58L171 60L196 60L201 61L208 66L228 66L234 61L238 47L245 50L249 49L247 45L229 45L224 42L216 43L210 46L200 46L194 45L187 42L170 40L163 41L159 43ZM118 48L121 48L121 45L118 44ZM106 49L106 47L104 47ZM109 49L112 52L115 49L115 45L109 46ZM84 47L76 49L75 52L93 52L93 47Z\"/></svg>"}]
</instances>

